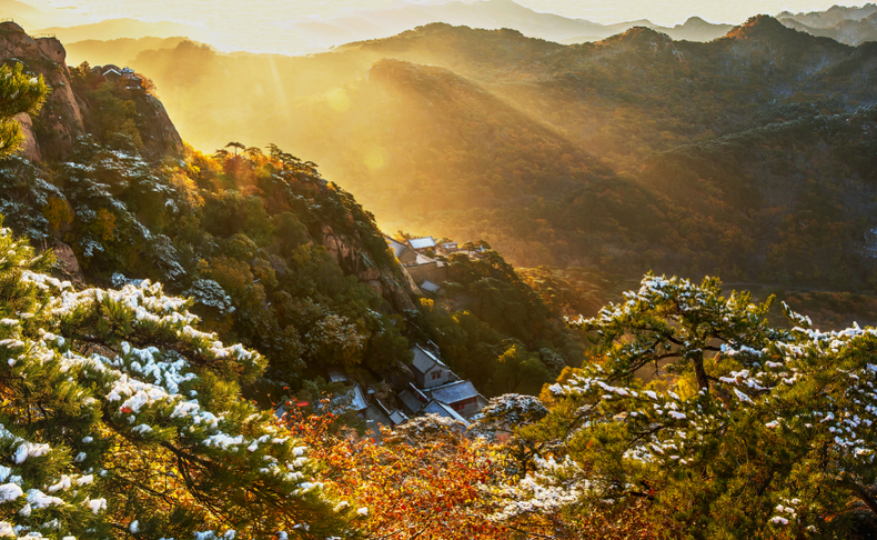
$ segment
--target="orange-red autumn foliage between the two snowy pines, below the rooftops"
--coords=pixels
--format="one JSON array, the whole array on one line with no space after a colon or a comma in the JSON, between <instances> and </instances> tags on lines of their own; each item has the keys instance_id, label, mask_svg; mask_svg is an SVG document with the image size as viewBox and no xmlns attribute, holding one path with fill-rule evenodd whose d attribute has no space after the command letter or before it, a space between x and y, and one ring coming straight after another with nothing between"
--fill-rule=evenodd
<instances>
[{"instance_id":1,"label":"orange-red autumn foliage between the two snowy pines, below the rooftops","mask_svg":"<svg viewBox=\"0 0 877 540\"><path fill-rule=\"evenodd\" d=\"M508 538L508 529L487 519L487 493L503 480L502 458L465 437L462 424L440 423L430 436L411 438L411 427L395 433L383 428L380 443L336 431L332 413L288 421L323 462L326 486L357 507L369 538Z\"/></svg>"}]
</instances>

